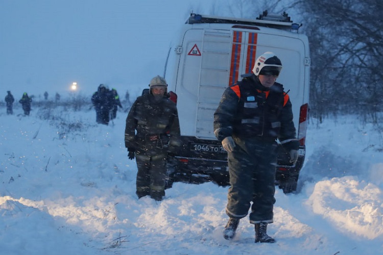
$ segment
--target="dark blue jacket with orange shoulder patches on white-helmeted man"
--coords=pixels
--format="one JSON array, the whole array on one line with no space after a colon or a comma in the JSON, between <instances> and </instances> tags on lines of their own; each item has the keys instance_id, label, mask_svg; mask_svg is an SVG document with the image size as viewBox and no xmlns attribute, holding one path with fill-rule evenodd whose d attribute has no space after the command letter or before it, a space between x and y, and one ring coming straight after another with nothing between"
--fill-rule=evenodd
<instances>
[{"instance_id":1,"label":"dark blue jacket with orange shoulder patches on white-helmeted man","mask_svg":"<svg viewBox=\"0 0 383 255\"><path fill-rule=\"evenodd\" d=\"M252 75L228 87L214 113L214 134L222 141L228 136L241 140L276 138L286 149L298 149L292 105L283 86L262 86Z\"/></svg>"}]
</instances>

